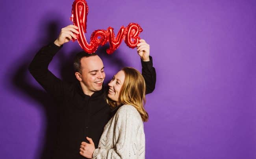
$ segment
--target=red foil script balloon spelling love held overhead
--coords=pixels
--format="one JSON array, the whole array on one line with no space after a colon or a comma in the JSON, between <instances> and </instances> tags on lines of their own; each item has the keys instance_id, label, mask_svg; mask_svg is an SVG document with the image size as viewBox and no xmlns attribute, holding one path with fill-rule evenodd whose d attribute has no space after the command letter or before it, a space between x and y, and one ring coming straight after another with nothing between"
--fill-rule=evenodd
<instances>
[{"instance_id":1,"label":"red foil script balloon spelling love held overhead","mask_svg":"<svg viewBox=\"0 0 256 159\"><path fill-rule=\"evenodd\" d=\"M99 45L103 46L109 42L110 47L107 49L107 53L112 54L120 46L122 40L124 40L126 45L132 49L139 43L139 34L143 30L137 23L130 23L127 27L121 26L117 36L115 36L112 27L108 27L107 30L95 30L91 34L90 43L88 43L85 37L87 14L87 2L85 0L75 0L72 4L72 15L70 20L78 27L79 34L75 35L79 45L85 52L92 54L97 50ZM74 39L72 40L75 41Z\"/></svg>"}]
</instances>

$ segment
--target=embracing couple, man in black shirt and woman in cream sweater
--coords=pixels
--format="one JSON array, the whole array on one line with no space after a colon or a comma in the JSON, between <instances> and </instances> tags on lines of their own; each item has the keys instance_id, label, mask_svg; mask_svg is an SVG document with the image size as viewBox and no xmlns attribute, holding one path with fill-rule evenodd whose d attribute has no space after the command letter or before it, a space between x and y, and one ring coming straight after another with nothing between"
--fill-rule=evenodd
<instances>
[{"instance_id":1,"label":"embracing couple, man in black shirt and woman in cream sweater","mask_svg":"<svg viewBox=\"0 0 256 159\"><path fill-rule=\"evenodd\" d=\"M58 103L60 126L52 158L145 158L145 94L156 83L149 45L145 40L137 45L142 74L124 67L104 86L100 57L80 52L74 58L77 82L68 83L52 74L48 65L64 43L76 39L76 29L75 25L62 28L59 37L40 49L29 66L32 76Z\"/></svg>"}]
</instances>

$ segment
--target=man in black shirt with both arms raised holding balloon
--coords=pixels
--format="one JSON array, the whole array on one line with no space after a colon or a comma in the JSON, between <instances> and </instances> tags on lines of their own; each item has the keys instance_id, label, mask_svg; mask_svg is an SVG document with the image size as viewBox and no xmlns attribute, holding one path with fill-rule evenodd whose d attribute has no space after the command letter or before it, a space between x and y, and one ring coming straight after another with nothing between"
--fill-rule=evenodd
<instances>
[{"instance_id":1,"label":"man in black shirt with both arms raised holding balloon","mask_svg":"<svg viewBox=\"0 0 256 159\"><path fill-rule=\"evenodd\" d=\"M38 83L58 101L60 128L54 159L83 159L79 149L85 137L90 137L98 146L104 126L111 118L111 109L106 103L104 65L96 54L80 52L74 59L77 83L67 83L48 70L48 65L64 43L79 34L75 25L61 29L59 37L43 47L35 55L29 66L30 73ZM147 93L155 88L156 72L149 56L149 45L140 40L137 52L141 57L142 74L147 85Z\"/></svg>"}]
</instances>

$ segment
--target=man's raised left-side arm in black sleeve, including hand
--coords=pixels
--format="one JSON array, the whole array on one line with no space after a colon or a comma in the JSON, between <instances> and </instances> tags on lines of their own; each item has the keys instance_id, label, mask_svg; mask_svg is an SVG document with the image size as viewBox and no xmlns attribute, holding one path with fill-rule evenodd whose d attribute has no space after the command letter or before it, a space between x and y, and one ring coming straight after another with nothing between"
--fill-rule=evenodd
<instances>
[{"instance_id":1,"label":"man's raised left-side arm in black sleeve, including hand","mask_svg":"<svg viewBox=\"0 0 256 159\"><path fill-rule=\"evenodd\" d=\"M37 82L47 92L54 94L55 96L61 96L63 94L64 86L63 82L48 70L48 65L64 43L69 42L71 38L76 39L76 36L72 33L74 32L78 34L76 29L77 27L74 25L68 25L67 27L62 28L59 37L54 41L54 43L50 43L41 48L33 58L28 68Z\"/></svg>"}]
</instances>

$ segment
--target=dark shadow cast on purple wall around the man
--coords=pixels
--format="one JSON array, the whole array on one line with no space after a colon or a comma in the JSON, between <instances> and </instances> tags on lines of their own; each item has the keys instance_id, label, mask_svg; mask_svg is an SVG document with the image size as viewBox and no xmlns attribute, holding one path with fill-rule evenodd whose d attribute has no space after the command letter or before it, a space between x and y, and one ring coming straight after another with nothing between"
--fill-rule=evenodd
<instances>
[{"instance_id":1,"label":"dark shadow cast on purple wall around the man","mask_svg":"<svg viewBox=\"0 0 256 159\"><path fill-rule=\"evenodd\" d=\"M13 91L13 93L17 93L18 91L21 94L19 95L20 98L37 101L38 105L35 105L35 107L43 107L44 109L43 112L45 113L46 123L44 125L45 128L41 128L41 130L45 130L45 134L41 135L43 136L43 141L37 145L38 150L35 154L38 155L35 157L36 159L49 159L51 158L51 154L53 154L54 145L58 136L59 111L56 107L57 103L55 103L43 89L39 89L36 85L31 84L27 77L29 74L28 65L38 51L38 48L43 47L49 42L53 42L58 37L61 29L60 26L63 26L60 24L61 20L59 19L49 21L48 18L43 18L40 25L41 28L39 28L39 33L41 34L37 36L38 39L35 39L35 43L32 43L32 46L28 46L29 49L22 53L23 56L19 58L19 62L10 65L10 69L7 69L8 72L13 72L7 79L7 81L11 82L8 83L11 84L11 91ZM96 53L103 60L106 59L104 61L111 61L111 66L114 65L115 67L113 69L118 71L127 65L127 63L122 61L121 57L117 56L118 51L115 52L115 56L106 54L107 48L108 46L100 47ZM65 56L65 50L61 49L58 54L56 54L55 58L58 58L59 61L61 61L61 69L59 71L61 79L64 81L76 81L73 72L72 59L76 53L80 51L81 50L74 50L68 53L68 56ZM113 75L106 76L105 85L112 76ZM43 147L41 145L43 145Z\"/></svg>"}]
</instances>

